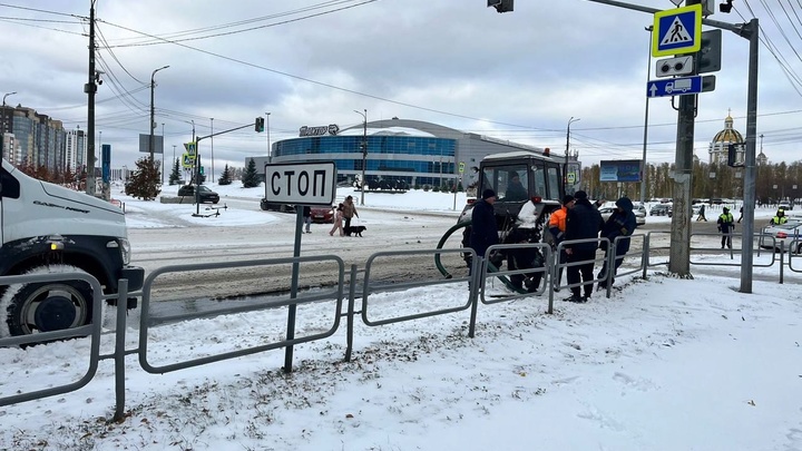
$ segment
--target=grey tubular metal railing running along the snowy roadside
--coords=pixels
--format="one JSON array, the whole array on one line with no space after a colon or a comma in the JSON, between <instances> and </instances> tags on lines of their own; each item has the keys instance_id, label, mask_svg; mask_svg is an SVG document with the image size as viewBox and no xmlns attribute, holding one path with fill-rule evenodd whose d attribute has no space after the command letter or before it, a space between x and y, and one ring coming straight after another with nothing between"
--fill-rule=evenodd
<instances>
[{"instance_id":1,"label":"grey tubular metal railing running along the snowy roadside","mask_svg":"<svg viewBox=\"0 0 802 451\"><path fill-rule=\"evenodd\" d=\"M659 232L663 233L663 232ZM125 357L130 354L137 354L139 365L143 370L145 370L148 373L166 373L172 371L178 371L183 369L194 367L212 362L218 362L227 359L234 359L238 356L255 354L260 352L265 352L270 350L281 349L284 347L286 352L285 356L285 371L292 371L292 349L293 345L304 342L311 342L316 340L323 340L326 337L332 336L340 327L341 317L345 316L346 318L346 325L348 331L345 334L346 339L346 350L345 350L345 360L351 359L351 353L353 350L353 330L354 330L354 323L356 321L356 317L362 320L362 322L368 326L381 326L392 323L400 323L405 321L414 321L422 317L428 316L434 316L434 315L443 315L443 314L452 314L452 313L459 313L467 310L470 310L470 323L469 323L469 336L475 336L476 331L476 321L477 321L477 310L478 305L481 303L487 306L492 306L493 304L498 304L501 302L509 302L515 301L524 297L531 297L531 296L542 296L548 292L548 313L552 313L554 307L554 296L555 292L559 288L564 287L576 287L576 286L584 286L586 284L591 283L599 283L605 282L607 286L606 296L610 296L610 287L613 285L613 278L615 276L624 276L624 275L630 275L636 273L642 273L643 277L646 277L647 275L647 268L649 266L655 265L663 265L667 264L667 262L652 262L649 259L649 254L655 251L662 251L667 249L667 247L652 247L651 241L653 237L653 234L658 234L655 232L651 232L647 234L637 234L633 235L630 237L617 237L616 239L610 243L606 238L593 238L593 239L583 239L583 241L575 241L575 242L564 242L559 246L556 247L556 249L551 249L549 245L546 244L503 244L503 245L495 245L488 248L486 255L483 257L477 257L473 249L470 248L460 248L460 249L424 249L424 251L399 251L399 252L381 252L371 255L371 257L366 261L364 269L363 269L363 280L362 280L362 286L361 286L361 295L358 296L358 292L360 292L358 283L359 283L359 268L356 265L352 265L350 271L350 280L345 282L345 268L343 261L335 256L335 255L321 255L321 256L306 256L306 257L287 257L287 258L271 258L271 259L253 259L253 261L243 261L243 262L226 262L226 263L209 263L209 264L187 264L187 265L174 265L174 266L165 266L162 268L158 268L154 271L151 274L148 275L147 280L145 281L145 284L139 292L128 292L128 281L121 280L119 283L119 291L117 294L114 295L102 295L102 288L99 285L98 281L91 277L90 275L86 273L59 273L59 274L36 274L36 275L23 275L23 276L6 276L0 277L0 286L6 285L14 285L14 284L29 284L29 283L46 283L46 282L58 282L58 281L79 281L87 283L94 293L92 295L92 322L89 325L80 326L76 329L70 330L63 330L63 331L55 331L55 332L46 332L40 333L36 335L26 335L26 336L12 336L12 337L6 337L0 339L0 347L2 346L18 346L18 345L25 345L30 343L40 343L43 341L51 341L51 340L63 340L68 337L77 337L77 336L87 336L91 341L90 344L90 353L89 353L89 367L87 372L84 374L84 376L75 382L71 383L65 383L62 385L41 389L41 390L32 390L25 393L14 393L14 394L8 394L0 392L0 406L9 405L9 404L16 404L25 401L31 401L37 400L41 398L47 396L53 396L57 394L62 394L71 391L77 391L95 376L98 362L100 360L109 359L114 360L115 362L115 392L116 392L116 409L115 409L115 420L121 421L124 420L124 411L125 411L125 379L126 379L126 367L125 367ZM695 236L704 236L704 235L711 235L711 234L696 234ZM693 237L693 235L692 235ZM636 244L638 241L642 241L642 249L639 252L628 252L626 255L616 255L616 247L617 244L622 239L629 239L630 246L633 244ZM761 236L761 239L763 237ZM776 245L776 242L773 241L774 238L771 237L772 245ZM594 258L594 266L596 263L602 262L603 265L606 264L606 267L608 271L606 274L600 274L600 276L594 277L591 281L584 281L579 283L574 284L566 284L566 285L559 285L559 281L557 281L557 275L559 274L559 271L563 268L566 268L566 272L571 266L581 265L587 262L560 262L559 258L556 256L559 255L560 252L566 247L566 245L577 244L577 243L587 243L587 242L596 242L603 245L606 245L606 248L608 252L603 258ZM760 243L763 243L761 241ZM800 245L798 239L794 239L791 242L791 246ZM780 283L782 283L782 271L783 271L783 247L784 245L781 242L780 246L780 263L781 263L781 280ZM793 247L792 247L793 248ZM498 271L490 262L490 254L493 252L509 252L509 251L519 251L519 249L531 249L537 251L540 253L544 257L544 266L532 267L532 268L520 268L520 269L506 269L506 271ZM705 251L708 248L705 247L694 247L695 251ZM721 251L721 249L718 249ZM379 258L382 257L404 257L404 256L412 256L412 255L431 255L434 257L436 255L444 255L444 254L456 254L459 253L461 255L468 255L471 257L471 266L470 272L467 277L456 277L456 278L440 278L440 280L428 280L428 281L418 281L418 282L405 282L405 283L398 283L398 284L382 284L380 282L374 282L371 278L372 271L380 264ZM638 258L639 259L636 259ZM628 265L626 269L623 272L616 274L615 266L617 262L623 261L624 258L627 258L629 263L637 262L636 265L632 266ZM772 255L771 264L769 266L773 265L776 261L776 257ZM795 269L792 267L791 264L791 256L789 256L789 266L792 268L792 271L795 272L802 272L802 269ZM300 267L300 264L302 263L321 263L321 262L333 262L333 264L336 265L338 274L336 274L336 285L332 290L327 291L317 291L317 292L303 292L297 293L297 271ZM221 308L215 310L207 310L207 311L200 311L200 312L184 312L182 314L174 314L174 315L159 315L157 313L153 312L153 303L151 303L151 292L154 287L155 281L165 274L170 273L182 273L182 272L192 272L192 271L207 271L207 269L224 269L224 268L242 268L242 267L271 267L275 265L292 265L293 266L293 277L291 282L291 290L288 297L287 296L277 296L275 298L271 298L270 301L262 301L262 302L254 302L250 303L247 305L231 305L231 306L223 306ZM711 262L697 262L696 264L718 264L718 263L711 263ZM725 263L726 265L736 265L735 263ZM740 264L740 263L739 263ZM613 269L613 271L610 271ZM511 293L509 295L502 295L498 298L489 298L486 295L487 290L487 280L490 277L507 277L507 276L516 276L516 275L540 275L541 280L540 283L542 286L539 286L536 291L532 293ZM372 312L372 304L371 304L371 295L375 295L379 293L388 293L388 292L398 292L398 291L404 291L409 288L418 288L418 287L431 287L431 286L442 286L447 284L463 284L464 282L468 282L469 290L466 291L467 298L466 300L456 300L458 303L452 306L447 306L442 308L433 308L411 314L403 314L394 317L384 317L384 318L374 318L371 316ZM345 284L349 284L348 290L348 306L346 312L342 312L343 307L343 298L345 297ZM118 301L117 305L126 305L126 300L129 296L138 296L141 298L141 312L139 317L139 340L134 349L125 349L125 339L126 339L126 315L127 312L125 308L117 308L116 311L116 330L114 331L114 337L115 337L115 351L111 354L101 355L100 354L100 337L101 337L101 307L102 303L106 300L113 300L116 298ZM355 301L358 297L361 297L361 310L358 312L355 310ZM302 337L296 337L294 332L294 322L295 322L295 307L303 304L309 303L323 303L323 302L332 302L332 322L327 330L310 334ZM196 320L202 317L208 317L211 315L226 315L226 314L236 314L236 313L245 313L245 312L256 312L256 311L266 311L271 308L278 308L278 307L287 307L288 308L288 317L287 317L287 326L285 330L286 337L284 340L274 341L266 344L261 344L258 346L236 350L236 351L228 351L228 352L221 352L216 354L205 355L197 359L190 359L190 360L184 360L184 361L177 361L170 364L166 365L156 365L153 362L148 360L148 343L149 343L149 331L159 324L166 324L172 322L183 322L183 321L189 321L189 320Z\"/></svg>"}]
</instances>

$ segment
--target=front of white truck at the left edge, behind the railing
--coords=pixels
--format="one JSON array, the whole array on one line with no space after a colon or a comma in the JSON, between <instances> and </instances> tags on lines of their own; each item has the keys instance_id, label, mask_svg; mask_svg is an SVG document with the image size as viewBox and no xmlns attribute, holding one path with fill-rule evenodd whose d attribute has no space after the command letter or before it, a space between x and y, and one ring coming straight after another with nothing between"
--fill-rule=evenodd
<instances>
[{"instance_id":1,"label":"front of white truck at the left edge, behind the railing","mask_svg":"<svg viewBox=\"0 0 802 451\"><path fill-rule=\"evenodd\" d=\"M86 272L106 294L145 272L129 266L124 212L110 203L37 180L7 160L0 167L0 276ZM127 307L136 306L129 298ZM79 281L0 285L0 336L76 327L91 322L92 292Z\"/></svg>"}]
</instances>

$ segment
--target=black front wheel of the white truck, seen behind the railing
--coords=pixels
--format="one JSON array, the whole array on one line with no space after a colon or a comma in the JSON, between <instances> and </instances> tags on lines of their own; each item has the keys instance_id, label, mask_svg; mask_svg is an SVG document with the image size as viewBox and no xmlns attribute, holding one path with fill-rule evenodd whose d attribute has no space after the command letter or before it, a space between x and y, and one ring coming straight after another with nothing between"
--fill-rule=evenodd
<instances>
[{"instance_id":1,"label":"black front wheel of the white truck, seen behind the railing","mask_svg":"<svg viewBox=\"0 0 802 451\"><path fill-rule=\"evenodd\" d=\"M25 284L8 306L11 335L77 327L91 322L91 290L84 282Z\"/></svg>"}]
</instances>

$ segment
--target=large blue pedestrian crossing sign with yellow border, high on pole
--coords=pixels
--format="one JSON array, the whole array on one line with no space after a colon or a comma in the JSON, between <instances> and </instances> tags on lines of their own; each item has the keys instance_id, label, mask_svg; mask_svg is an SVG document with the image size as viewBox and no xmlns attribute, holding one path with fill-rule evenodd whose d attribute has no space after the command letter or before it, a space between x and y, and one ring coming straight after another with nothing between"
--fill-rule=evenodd
<instances>
[{"instance_id":1,"label":"large blue pedestrian crossing sign with yellow border, high on pole","mask_svg":"<svg viewBox=\"0 0 802 451\"><path fill-rule=\"evenodd\" d=\"M652 56L695 53L702 48L702 4L655 12Z\"/></svg>"}]
</instances>

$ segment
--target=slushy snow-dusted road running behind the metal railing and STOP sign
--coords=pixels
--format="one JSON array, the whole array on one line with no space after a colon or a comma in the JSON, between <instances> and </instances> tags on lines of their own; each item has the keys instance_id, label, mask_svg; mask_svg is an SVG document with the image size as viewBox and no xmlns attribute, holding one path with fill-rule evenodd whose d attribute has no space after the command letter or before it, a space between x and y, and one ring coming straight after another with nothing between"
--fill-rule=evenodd
<instances>
[{"instance_id":1,"label":"slushy snow-dusted road running behind the metal railing and STOP sign","mask_svg":"<svg viewBox=\"0 0 802 451\"><path fill-rule=\"evenodd\" d=\"M227 199L236 208L258 209L255 199ZM296 234L295 214L264 212L281 219L264 225L204 227L175 224L167 228L138 228L129 231L133 247L133 264L143 266L146 274L158 268L174 267L154 280L154 301L187 301L197 298L225 300L242 296L263 295L288 290L292 266L290 264L254 264L236 268L177 267L183 265L224 264L226 262L258 261L292 257L296 238L300 239L301 256L321 256L321 262L300 265L299 286L302 290L334 285L339 266L332 258L344 263L344 278L350 277L351 265L360 269L378 253L403 253L395 256L379 256L373 259L370 275L372 281L400 283L442 278L434 265L432 253L409 252L434 249L446 232L457 223L458 212L417 213L361 208L359 224L368 229L363 237L330 236L329 224L314 224L311 234ZM159 218L166 220L166 218ZM652 219L652 220L649 220ZM636 234L663 231L653 236L653 247L667 247L669 243L668 218L647 218L647 224ZM692 225L694 233L716 234L715 222ZM460 248L461 232L454 233L444 248ZM716 237L706 237L715 245ZM642 248L643 238L633 238L633 251ZM667 251L656 251L666 254ZM327 257L326 257L327 256ZM459 254L442 256L446 269L454 275L467 274L464 262Z\"/></svg>"}]
</instances>

